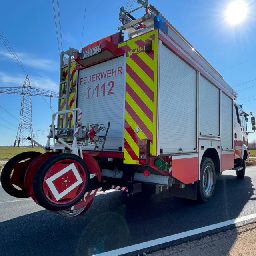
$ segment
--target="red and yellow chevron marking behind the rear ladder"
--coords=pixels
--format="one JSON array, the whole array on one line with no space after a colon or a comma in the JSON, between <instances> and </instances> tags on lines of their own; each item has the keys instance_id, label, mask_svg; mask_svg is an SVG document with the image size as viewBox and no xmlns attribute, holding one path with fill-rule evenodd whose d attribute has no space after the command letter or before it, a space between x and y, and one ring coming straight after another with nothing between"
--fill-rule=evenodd
<instances>
[{"instance_id":1,"label":"red and yellow chevron marking behind the rear ladder","mask_svg":"<svg viewBox=\"0 0 256 256\"><path fill-rule=\"evenodd\" d=\"M70 81L68 88L66 88L66 84L62 84L62 90L61 91L66 89L67 93L69 94L68 109L74 109L75 108L75 92L70 92L70 89L72 87L76 86L76 68L75 67L76 67L75 63L72 62L70 73L73 75L73 84L72 84L72 81ZM66 79L67 76L68 76L68 67L64 68L64 72L65 72L64 77ZM61 92L60 96L64 97L64 96L66 96L66 94L63 94ZM59 109L59 111L66 110L66 109L67 109L66 99L60 99L60 109ZM60 118L63 119L63 124L65 124L65 115L60 116ZM68 114L68 119L71 120L71 122L70 122L70 124L68 124L68 126L70 126L72 128L73 127L73 119L72 119L71 113Z\"/></svg>"}]
</instances>

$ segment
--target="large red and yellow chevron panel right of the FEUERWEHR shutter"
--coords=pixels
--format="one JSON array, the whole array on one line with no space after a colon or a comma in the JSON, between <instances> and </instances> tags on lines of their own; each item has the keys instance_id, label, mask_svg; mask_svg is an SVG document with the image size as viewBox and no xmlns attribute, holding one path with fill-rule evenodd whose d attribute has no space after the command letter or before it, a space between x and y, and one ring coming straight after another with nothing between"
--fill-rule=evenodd
<instances>
[{"instance_id":1,"label":"large red and yellow chevron panel right of the FEUERWEHR shutter","mask_svg":"<svg viewBox=\"0 0 256 256\"><path fill-rule=\"evenodd\" d=\"M152 40L150 53L144 52L146 39ZM158 30L118 47L126 50L124 163L139 164L141 139L150 140L150 154L156 155Z\"/></svg>"}]
</instances>

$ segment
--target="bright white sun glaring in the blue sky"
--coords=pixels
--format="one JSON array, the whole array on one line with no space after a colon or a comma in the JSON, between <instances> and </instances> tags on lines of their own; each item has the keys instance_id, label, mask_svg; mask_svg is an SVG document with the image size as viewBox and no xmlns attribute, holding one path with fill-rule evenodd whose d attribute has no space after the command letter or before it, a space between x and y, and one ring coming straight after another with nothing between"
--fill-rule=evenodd
<instances>
[{"instance_id":1,"label":"bright white sun glaring in the blue sky","mask_svg":"<svg viewBox=\"0 0 256 256\"><path fill-rule=\"evenodd\" d=\"M226 11L226 19L231 24L238 24L244 20L247 14L247 4L242 0L232 2Z\"/></svg>"}]
</instances>

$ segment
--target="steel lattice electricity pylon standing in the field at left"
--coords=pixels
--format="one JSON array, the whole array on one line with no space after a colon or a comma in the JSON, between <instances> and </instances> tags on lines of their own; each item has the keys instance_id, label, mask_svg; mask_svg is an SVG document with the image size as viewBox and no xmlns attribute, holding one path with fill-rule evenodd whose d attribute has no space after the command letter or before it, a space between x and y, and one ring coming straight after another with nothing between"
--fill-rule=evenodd
<instances>
[{"instance_id":1,"label":"steel lattice electricity pylon standing in the field at left","mask_svg":"<svg viewBox=\"0 0 256 256\"><path fill-rule=\"evenodd\" d=\"M22 90L21 90L22 89ZM42 97L51 97L51 106L52 98L58 97L57 92L51 92L49 90L42 90L38 88L32 88L30 86L28 75L24 81L24 84L16 87L2 86L0 88L0 93L9 93L9 94L21 94L21 106L20 106L20 123L17 132L16 139L14 141L14 147L19 147L23 142L27 142L27 137L34 139L34 132L32 128L32 103L31 96L42 96ZM33 143L31 144L33 147Z\"/></svg>"}]
</instances>

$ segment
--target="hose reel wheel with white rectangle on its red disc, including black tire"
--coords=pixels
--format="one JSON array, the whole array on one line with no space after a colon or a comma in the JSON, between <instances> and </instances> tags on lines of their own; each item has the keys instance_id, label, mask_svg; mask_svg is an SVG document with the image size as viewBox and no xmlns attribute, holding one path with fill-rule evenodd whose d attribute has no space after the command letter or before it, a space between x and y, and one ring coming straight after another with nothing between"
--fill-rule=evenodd
<instances>
[{"instance_id":1,"label":"hose reel wheel with white rectangle on its red disc, including black tire","mask_svg":"<svg viewBox=\"0 0 256 256\"><path fill-rule=\"evenodd\" d=\"M86 193L90 174L87 164L74 154L60 153L46 159L33 180L34 196L47 210L74 206Z\"/></svg>"}]
</instances>

